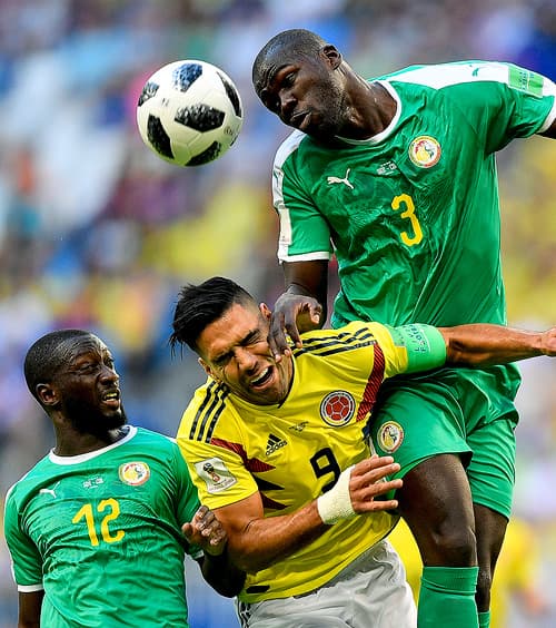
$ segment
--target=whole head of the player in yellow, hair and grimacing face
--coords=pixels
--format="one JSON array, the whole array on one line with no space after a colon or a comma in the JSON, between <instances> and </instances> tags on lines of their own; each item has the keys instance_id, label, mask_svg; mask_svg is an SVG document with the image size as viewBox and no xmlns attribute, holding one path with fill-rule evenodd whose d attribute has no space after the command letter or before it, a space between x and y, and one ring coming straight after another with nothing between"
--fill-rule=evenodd
<instances>
[{"instance_id":1,"label":"whole head of the player in yellow, hair and grimacing face","mask_svg":"<svg viewBox=\"0 0 556 628\"><path fill-rule=\"evenodd\" d=\"M291 359L276 362L268 345L270 311L241 286L224 277L183 286L170 335L172 352L187 344L208 375L257 405L284 401Z\"/></svg>"}]
</instances>

